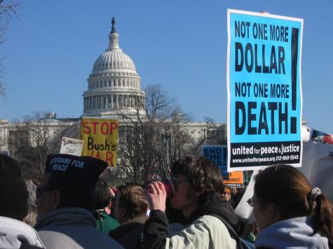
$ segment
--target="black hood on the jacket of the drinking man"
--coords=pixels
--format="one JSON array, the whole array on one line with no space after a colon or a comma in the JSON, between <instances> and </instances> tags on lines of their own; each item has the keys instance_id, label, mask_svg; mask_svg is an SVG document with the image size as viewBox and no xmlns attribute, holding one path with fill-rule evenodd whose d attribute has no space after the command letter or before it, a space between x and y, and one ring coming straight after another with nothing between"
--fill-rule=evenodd
<instances>
[{"instance_id":1,"label":"black hood on the jacket of the drinking man","mask_svg":"<svg viewBox=\"0 0 333 249\"><path fill-rule=\"evenodd\" d=\"M228 201L219 197L219 194L210 194L203 203L198 205L196 211L193 211L184 225L190 225L194 220L203 215L217 214L222 216L229 224L237 229L238 218Z\"/></svg>"}]
</instances>

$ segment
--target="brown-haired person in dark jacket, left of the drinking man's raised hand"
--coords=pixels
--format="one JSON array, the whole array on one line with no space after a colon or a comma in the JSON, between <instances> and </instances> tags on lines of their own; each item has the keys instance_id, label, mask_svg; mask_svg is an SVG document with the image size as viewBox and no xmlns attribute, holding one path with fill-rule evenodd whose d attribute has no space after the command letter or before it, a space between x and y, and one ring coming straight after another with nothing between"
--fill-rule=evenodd
<instances>
[{"instance_id":1,"label":"brown-haired person in dark jacket, left of the drinking man's raised hand","mask_svg":"<svg viewBox=\"0 0 333 249\"><path fill-rule=\"evenodd\" d=\"M114 216L121 226L109 234L124 248L142 248L148 202L140 185L125 185L118 190Z\"/></svg>"}]
</instances>

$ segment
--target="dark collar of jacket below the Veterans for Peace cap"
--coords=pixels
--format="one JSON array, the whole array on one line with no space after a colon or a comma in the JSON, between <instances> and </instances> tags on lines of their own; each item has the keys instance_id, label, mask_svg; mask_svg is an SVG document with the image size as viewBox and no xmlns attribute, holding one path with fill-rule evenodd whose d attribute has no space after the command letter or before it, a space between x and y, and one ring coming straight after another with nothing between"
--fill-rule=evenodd
<instances>
[{"instance_id":1,"label":"dark collar of jacket below the Veterans for Peace cap","mask_svg":"<svg viewBox=\"0 0 333 249\"><path fill-rule=\"evenodd\" d=\"M92 213L84 208L59 208L37 218L35 229L48 225L84 224L96 226Z\"/></svg>"}]
</instances>

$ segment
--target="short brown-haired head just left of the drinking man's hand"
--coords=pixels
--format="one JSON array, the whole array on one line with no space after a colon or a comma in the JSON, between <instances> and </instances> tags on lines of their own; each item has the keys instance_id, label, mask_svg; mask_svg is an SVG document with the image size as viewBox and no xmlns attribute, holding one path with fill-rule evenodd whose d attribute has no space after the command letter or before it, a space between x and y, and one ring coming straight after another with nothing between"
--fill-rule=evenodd
<instances>
[{"instance_id":1,"label":"short brown-haired head just left of the drinking man's hand","mask_svg":"<svg viewBox=\"0 0 333 249\"><path fill-rule=\"evenodd\" d=\"M118 190L114 216L119 223L146 215L147 208L148 202L140 185L125 185Z\"/></svg>"}]
</instances>

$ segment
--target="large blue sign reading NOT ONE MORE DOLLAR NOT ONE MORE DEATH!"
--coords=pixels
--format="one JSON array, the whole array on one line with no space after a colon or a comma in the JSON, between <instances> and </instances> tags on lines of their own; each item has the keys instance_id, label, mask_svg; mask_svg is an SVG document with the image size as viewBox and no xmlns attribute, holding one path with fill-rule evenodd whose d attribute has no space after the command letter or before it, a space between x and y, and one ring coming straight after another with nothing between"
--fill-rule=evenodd
<instances>
[{"instance_id":1,"label":"large blue sign reading NOT ONE MORE DOLLAR NOT ONE MORE DEATH!","mask_svg":"<svg viewBox=\"0 0 333 249\"><path fill-rule=\"evenodd\" d=\"M228 10L228 171L301 166L303 20Z\"/></svg>"}]
</instances>

